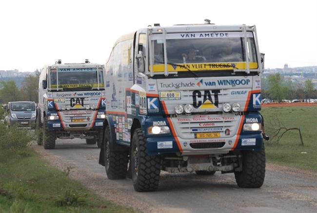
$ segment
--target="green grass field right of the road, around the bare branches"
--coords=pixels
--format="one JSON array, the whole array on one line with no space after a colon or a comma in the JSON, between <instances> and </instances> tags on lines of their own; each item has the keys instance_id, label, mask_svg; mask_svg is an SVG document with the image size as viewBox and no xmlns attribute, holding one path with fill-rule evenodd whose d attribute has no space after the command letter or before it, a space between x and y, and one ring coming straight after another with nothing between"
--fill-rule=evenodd
<instances>
[{"instance_id":1,"label":"green grass field right of the road, around the bare branches","mask_svg":"<svg viewBox=\"0 0 317 213\"><path fill-rule=\"evenodd\" d=\"M291 130L279 142L265 142L267 161L317 171L317 106L262 107L261 113L270 137L273 136L271 128L278 119L286 128L300 128L304 141L303 147L298 131Z\"/></svg>"}]
</instances>

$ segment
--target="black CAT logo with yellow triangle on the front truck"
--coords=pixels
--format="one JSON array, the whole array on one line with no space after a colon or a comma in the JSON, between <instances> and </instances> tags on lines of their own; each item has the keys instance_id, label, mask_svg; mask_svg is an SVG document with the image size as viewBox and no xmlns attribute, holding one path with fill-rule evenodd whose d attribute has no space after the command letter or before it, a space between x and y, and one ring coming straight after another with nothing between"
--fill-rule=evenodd
<instances>
[{"instance_id":1,"label":"black CAT logo with yellow triangle on the front truck","mask_svg":"<svg viewBox=\"0 0 317 213\"><path fill-rule=\"evenodd\" d=\"M193 91L193 106L195 108L206 109L206 108L217 108L218 107L218 94L220 90L204 90L202 96L199 90ZM214 100L211 97L214 95Z\"/></svg>"}]
</instances>

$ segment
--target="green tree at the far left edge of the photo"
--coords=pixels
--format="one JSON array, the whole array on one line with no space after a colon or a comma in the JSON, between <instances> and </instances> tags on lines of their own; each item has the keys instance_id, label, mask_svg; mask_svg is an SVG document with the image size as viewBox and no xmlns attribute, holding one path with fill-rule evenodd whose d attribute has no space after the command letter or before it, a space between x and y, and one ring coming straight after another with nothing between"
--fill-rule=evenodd
<instances>
[{"instance_id":1,"label":"green tree at the far left edge of the photo","mask_svg":"<svg viewBox=\"0 0 317 213\"><path fill-rule=\"evenodd\" d=\"M0 82L0 99L4 103L20 101L20 90L15 81Z\"/></svg>"}]
</instances>

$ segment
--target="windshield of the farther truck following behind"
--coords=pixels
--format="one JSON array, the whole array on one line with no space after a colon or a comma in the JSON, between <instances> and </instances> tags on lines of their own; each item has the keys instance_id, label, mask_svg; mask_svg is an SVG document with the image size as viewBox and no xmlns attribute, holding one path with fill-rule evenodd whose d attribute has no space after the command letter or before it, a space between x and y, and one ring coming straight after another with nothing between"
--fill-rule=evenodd
<instances>
[{"instance_id":1,"label":"windshield of the farther truck following behind","mask_svg":"<svg viewBox=\"0 0 317 213\"><path fill-rule=\"evenodd\" d=\"M84 70L82 70L84 69ZM57 70L51 69L51 88L57 88ZM97 68L59 68L59 88L98 87ZM103 88L103 72L98 71L99 87Z\"/></svg>"}]
</instances>

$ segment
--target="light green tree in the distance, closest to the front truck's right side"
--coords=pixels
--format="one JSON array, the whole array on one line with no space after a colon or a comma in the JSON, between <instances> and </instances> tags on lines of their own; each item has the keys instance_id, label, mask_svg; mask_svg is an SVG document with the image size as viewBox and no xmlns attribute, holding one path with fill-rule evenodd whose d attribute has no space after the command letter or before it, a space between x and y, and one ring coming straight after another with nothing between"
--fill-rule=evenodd
<instances>
[{"instance_id":1,"label":"light green tree in the distance, closest to the front truck's right side","mask_svg":"<svg viewBox=\"0 0 317 213\"><path fill-rule=\"evenodd\" d=\"M282 85L282 77L279 73L275 75L269 75L268 82L270 85L269 94L278 102L281 102L282 99L285 99L288 93L288 87Z\"/></svg>"}]
</instances>

